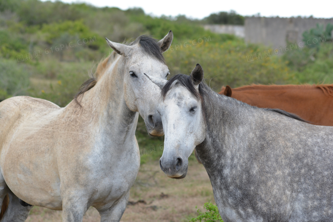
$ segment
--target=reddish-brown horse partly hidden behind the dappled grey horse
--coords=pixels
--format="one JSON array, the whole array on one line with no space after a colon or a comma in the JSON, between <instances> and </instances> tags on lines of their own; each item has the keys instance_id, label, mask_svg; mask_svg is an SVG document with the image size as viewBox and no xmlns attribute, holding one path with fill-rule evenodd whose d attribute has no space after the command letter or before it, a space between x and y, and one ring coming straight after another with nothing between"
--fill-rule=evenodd
<instances>
[{"instance_id":1,"label":"reddish-brown horse partly hidden behind the dappled grey horse","mask_svg":"<svg viewBox=\"0 0 333 222\"><path fill-rule=\"evenodd\" d=\"M333 84L226 86L219 94L259 108L292 112L314 125L333 126Z\"/></svg>"}]
</instances>

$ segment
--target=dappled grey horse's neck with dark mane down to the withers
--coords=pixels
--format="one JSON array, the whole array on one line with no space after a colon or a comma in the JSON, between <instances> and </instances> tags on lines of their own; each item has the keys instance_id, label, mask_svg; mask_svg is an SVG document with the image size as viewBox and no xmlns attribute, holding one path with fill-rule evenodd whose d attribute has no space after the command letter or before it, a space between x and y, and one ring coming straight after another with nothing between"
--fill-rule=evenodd
<instances>
[{"instance_id":1,"label":"dappled grey horse's neck with dark mane down to the withers","mask_svg":"<svg viewBox=\"0 0 333 222\"><path fill-rule=\"evenodd\" d=\"M257 108L219 95L206 85L203 89L207 130L205 140L196 146L196 151L207 172L210 167L232 168L244 164L241 161L247 159L249 152L253 152L250 147L253 144L258 146L258 139L264 140L263 134L268 128L287 130L291 121L293 124L305 121L286 111ZM294 122L292 119L300 121ZM259 133L261 136L258 136Z\"/></svg>"}]
</instances>

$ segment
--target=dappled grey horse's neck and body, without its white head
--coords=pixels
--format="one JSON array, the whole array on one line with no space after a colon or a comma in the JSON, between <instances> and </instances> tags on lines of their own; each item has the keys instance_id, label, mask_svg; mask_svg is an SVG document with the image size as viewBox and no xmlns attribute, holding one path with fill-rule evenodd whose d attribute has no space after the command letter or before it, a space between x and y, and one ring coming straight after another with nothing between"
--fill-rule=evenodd
<instances>
[{"instance_id":1,"label":"dappled grey horse's neck and body, without its white head","mask_svg":"<svg viewBox=\"0 0 333 222\"><path fill-rule=\"evenodd\" d=\"M333 127L260 109L204 87L196 151L227 221L333 221Z\"/></svg>"}]
</instances>

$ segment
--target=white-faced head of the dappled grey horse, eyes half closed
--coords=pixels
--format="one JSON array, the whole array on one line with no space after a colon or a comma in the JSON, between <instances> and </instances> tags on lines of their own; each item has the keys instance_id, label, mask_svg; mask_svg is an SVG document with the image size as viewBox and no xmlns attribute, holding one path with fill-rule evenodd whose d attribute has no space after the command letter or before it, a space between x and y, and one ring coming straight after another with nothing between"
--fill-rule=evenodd
<instances>
[{"instance_id":1,"label":"white-faced head of the dappled grey horse, eyes half closed","mask_svg":"<svg viewBox=\"0 0 333 222\"><path fill-rule=\"evenodd\" d=\"M206 135L202 98L199 91L203 79L202 67L197 64L190 76L178 74L169 81L150 79L163 87L157 110L165 133L160 167L168 177L186 176L188 157Z\"/></svg>"}]
</instances>

